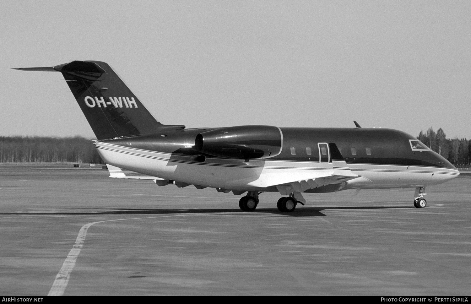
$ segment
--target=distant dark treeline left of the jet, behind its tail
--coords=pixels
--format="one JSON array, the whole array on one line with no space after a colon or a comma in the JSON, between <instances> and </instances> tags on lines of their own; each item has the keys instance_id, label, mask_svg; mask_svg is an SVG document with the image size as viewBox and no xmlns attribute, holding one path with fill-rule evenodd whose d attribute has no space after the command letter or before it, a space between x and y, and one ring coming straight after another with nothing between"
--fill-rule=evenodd
<instances>
[{"instance_id":1,"label":"distant dark treeline left of the jet, behind its tail","mask_svg":"<svg viewBox=\"0 0 471 304\"><path fill-rule=\"evenodd\" d=\"M80 137L0 136L0 162L103 164L93 141Z\"/></svg>"}]
</instances>

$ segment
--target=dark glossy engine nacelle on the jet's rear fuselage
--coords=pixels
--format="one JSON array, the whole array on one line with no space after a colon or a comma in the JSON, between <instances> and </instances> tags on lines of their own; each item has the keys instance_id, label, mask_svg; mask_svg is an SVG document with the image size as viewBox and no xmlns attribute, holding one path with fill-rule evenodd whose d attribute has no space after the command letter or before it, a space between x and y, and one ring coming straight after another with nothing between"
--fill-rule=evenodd
<instances>
[{"instance_id":1,"label":"dark glossy engine nacelle on the jet's rear fuselage","mask_svg":"<svg viewBox=\"0 0 471 304\"><path fill-rule=\"evenodd\" d=\"M283 146L280 128L249 125L219 128L196 135L195 149L212 156L263 159L277 156Z\"/></svg>"}]
</instances>

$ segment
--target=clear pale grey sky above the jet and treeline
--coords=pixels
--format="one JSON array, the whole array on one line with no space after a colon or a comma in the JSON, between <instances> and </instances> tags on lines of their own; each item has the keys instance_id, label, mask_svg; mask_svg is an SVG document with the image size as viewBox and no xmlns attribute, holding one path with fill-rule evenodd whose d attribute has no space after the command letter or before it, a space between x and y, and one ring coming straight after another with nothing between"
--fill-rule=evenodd
<instances>
[{"instance_id":1,"label":"clear pale grey sky above the jet and treeline","mask_svg":"<svg viewBox=\"0 0 471 304\"><path fill-rule=\"evenodd\" d=\"M94 137L60 73L101 60L162 123L471 137L470 1L0 1L0 135Z\"/></svg>"}]
</instances>

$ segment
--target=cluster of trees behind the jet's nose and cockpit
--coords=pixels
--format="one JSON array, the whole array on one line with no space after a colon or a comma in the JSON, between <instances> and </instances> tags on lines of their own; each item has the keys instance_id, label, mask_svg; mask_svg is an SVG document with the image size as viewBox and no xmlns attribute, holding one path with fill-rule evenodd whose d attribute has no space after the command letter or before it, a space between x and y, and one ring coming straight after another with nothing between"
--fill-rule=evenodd
<instances>
[{"instance_id":1,"label":"cluster of trees behind the jet's nose and cockpit","mask_svg":"<svg viewBox=\"0 0 471 304\"><path fill-rule=\"evenodd\" d=\"M445 157L455 167L469 167L471 163L471 141L465 138L447 138L442 128L437 132L430 127L426 132L420 131L417 139L427 147Z\"/></svg>"}]
</instances>

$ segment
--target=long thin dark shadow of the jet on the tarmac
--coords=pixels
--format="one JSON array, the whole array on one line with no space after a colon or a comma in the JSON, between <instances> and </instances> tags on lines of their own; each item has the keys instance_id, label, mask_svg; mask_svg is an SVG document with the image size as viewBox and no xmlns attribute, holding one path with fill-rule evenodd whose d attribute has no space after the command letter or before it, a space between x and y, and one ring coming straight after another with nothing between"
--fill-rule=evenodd
<instances>
[{"instance_id":1,"label":"long thin dark shadow of the jet on the tarmac","mask_svg":"<svg viewBox=\"0 0 471 304\"><path fill-rule=\"evenodd\" d=\"M241 211L240 209L104 209L104 208L83 208L81 210L89 211L77 211L77 212L29 212L29 213L0 213L0 215L106 215L106 214L204 214L204 213L240 213L240 214L257 214L257 213L271 213L286 216L299 216L299 217L310 217L310 216L326 216L321 211L323 210L368 210L368 209L410 209L413 206L365 206L365 207L301 207L293 212L280 212L276 208L260 208L252 212Z\"/></svg>"}]
</instances>

